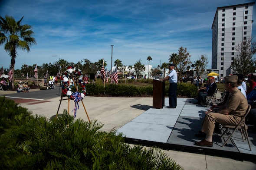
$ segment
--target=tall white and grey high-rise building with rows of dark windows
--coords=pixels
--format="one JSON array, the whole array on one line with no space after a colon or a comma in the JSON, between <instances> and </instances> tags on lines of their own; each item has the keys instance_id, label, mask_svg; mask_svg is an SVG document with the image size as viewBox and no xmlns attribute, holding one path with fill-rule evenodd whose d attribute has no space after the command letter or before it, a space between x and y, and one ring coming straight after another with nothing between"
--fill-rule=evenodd
<instances>
[{"instance_id":1,"label":"tall white and grey high-rise building with rows of dark windows","mask_svg":"<svg viewBox=\"0 0 256 170\"><path fill-rule=\"evenodd\" d=\"M236 47L252 37L253 5L218 7L212 25L212 69L219 70L219 76L229 76L238 52Z\"/></svg>"}]
</instances>

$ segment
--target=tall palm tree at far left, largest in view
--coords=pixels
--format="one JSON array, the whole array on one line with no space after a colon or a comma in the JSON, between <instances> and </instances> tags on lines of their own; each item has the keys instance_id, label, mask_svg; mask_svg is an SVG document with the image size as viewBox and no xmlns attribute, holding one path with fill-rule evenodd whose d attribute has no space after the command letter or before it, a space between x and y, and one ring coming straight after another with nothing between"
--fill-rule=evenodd
<instances>
[{"instance_id":1,"label":"tall palm tree at far left, largest in view","mask_svg":"<svg viewBox=\"0 0 256 170\"><path fill-rule=\"evenodd\" d=\"M5 18L0 16L0 44L6 43L4 44L4 50L10 54L10 69L12 69L13 75L17 49L29 52L30 46L36 44L35 38L31 37L34 34L32 27L30 25L21 25L23 17L16 22L11 16L6 15ZM12 81L12 88L14 88L14 81Z\"/></svg>"}]
</instances>

